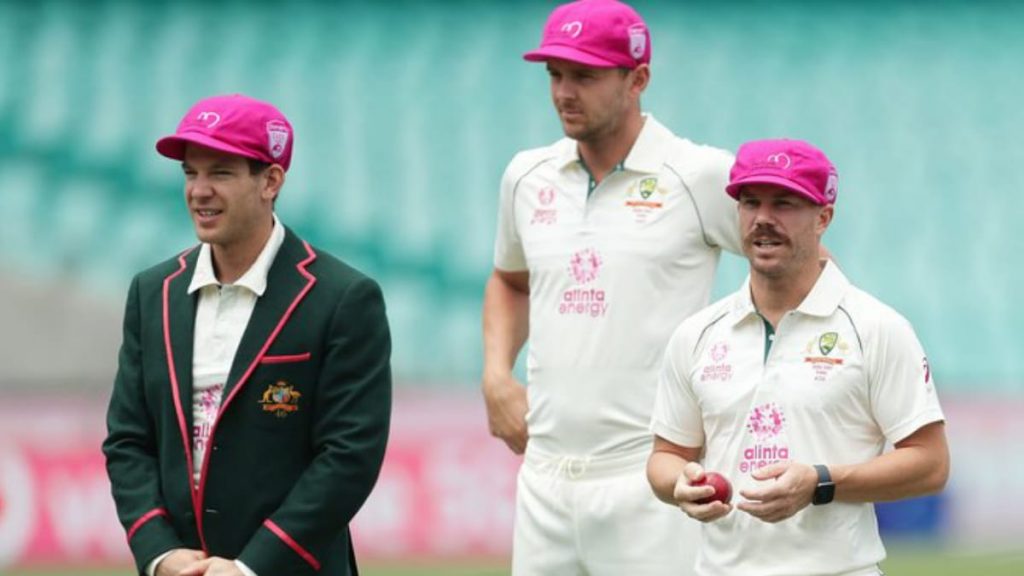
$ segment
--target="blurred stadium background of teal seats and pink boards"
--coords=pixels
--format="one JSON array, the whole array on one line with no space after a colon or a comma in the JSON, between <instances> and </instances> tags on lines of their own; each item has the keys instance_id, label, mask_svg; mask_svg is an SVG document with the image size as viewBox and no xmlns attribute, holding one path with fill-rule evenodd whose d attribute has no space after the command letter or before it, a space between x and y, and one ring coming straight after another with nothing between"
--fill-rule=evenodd
<instances>
[{"instance_id":1,"label":"blurred stadium background of teal seats and pink boards","mask_svg":"<svg viewBox=\"0 0 1024 576\"><path fill-rule=\"evenodd\" d=\"M696 141L827 151L828 247L929 351L953 474L880 506L886 566L1024 573L1024 3L635 5L645 108ZM398 398L366 572L504 572L518 461L486 434L479 308L505 163L560 135L519 57L553 6L0 0L0 572L129 573L98 454L123 298L194 242L153 146L227 92L295 126L282 219L387 296ZM716 294L744 274L723 258Z\"/></svg>"}]
</instances>

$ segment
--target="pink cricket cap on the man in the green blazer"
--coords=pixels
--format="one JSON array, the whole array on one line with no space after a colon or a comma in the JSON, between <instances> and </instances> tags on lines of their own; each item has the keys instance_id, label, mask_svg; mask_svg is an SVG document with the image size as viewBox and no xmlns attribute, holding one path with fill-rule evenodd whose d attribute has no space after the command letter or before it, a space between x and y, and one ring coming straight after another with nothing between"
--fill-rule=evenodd
<instances>
[{"instance_id":1,"label":"pink cricket cap on the man in the green blazer","mask_svg":"<svg viewBox=\"0 0 1024 576\"><path fill-rule=\"evenodd\" d=\"M157 140L157 152L184 160L185 146L280 164L292 163L292 125L272 105L242 94L212 96L196 102L173 135Z\"/></svg>"}]
</instances>

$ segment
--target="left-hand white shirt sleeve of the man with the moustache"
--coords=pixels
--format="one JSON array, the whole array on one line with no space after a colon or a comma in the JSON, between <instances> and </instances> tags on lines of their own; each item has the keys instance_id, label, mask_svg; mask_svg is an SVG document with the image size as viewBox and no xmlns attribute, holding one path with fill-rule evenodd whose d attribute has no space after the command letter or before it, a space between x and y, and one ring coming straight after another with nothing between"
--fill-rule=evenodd
<instances>
[{"instance_id":1,"label":"left-hand white shirt sleeve of the man with the moustache","mask_svg":"<svg viewBox=\"0 0 1024 576\"><path fill-rule=\"evenodd\" d=\"M703 420L690 385L689 347L682 340L677 331L666 347L650 431L673 444L699 448L705 444Z\"/></svg>"}]
</instances>

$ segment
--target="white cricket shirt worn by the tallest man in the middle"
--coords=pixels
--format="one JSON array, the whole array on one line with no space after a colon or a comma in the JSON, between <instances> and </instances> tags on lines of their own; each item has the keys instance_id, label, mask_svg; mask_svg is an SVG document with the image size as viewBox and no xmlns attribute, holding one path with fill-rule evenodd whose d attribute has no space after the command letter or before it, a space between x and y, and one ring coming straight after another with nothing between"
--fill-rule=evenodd
<instances>
[{"instance_id":1,"label":"white cricket shirt worn by the tallest man in the middle","mask_svg":"<svg viewBox=\"0 0 1024 576\"><path fill-rule=\"evenodd\" d=\"M592 191L572 139L513 158L495 266L529 272L530 450L649 449L665 344L708 303L721 248L739 251L731 164L649 115Z\"/></svg>"}]
</instances>

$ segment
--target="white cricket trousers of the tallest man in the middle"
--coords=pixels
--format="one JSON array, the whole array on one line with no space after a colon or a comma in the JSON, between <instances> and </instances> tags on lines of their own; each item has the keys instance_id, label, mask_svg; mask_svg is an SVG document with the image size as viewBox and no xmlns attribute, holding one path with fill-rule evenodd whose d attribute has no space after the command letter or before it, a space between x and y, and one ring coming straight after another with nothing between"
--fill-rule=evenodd
<instances>
[{"instance_id":1,"label":"white cricket trousers of the tallest man in the middle","mask_svg":"<svg viewBox=\"0 0 1024 576\"><path fill-rule=\"evenodd\" d=\"M700 523L654 496L649 454L578 458L527 448L512 576L693 576Z\"/></svg>"}]
</instances>

